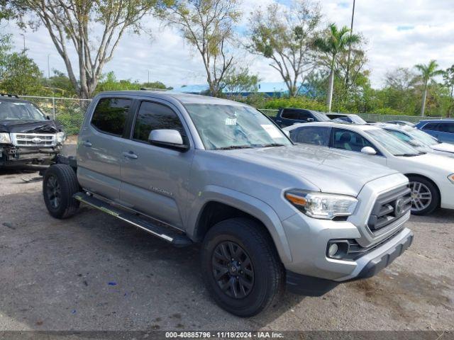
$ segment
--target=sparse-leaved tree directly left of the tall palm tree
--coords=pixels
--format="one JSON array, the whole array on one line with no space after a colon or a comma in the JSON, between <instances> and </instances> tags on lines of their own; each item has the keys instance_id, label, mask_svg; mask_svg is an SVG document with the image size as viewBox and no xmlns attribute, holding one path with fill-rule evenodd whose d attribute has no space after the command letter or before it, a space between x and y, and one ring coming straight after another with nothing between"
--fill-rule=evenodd
<instances>
[{"instance_id":1,"label":"sparse-leaved tree directly left of the tall palm tree","mask_svg":"<svg viewBox=\"0 0 454 340\"><path fill-rule=\"evenodd\" d=\"M258 9L249 19L248 50L271 60L290 96L297 96L304 79L316 66L312 42L321 21L319 4L295 0L291 8L279 4Z\"/></svg>"}]
</instances>

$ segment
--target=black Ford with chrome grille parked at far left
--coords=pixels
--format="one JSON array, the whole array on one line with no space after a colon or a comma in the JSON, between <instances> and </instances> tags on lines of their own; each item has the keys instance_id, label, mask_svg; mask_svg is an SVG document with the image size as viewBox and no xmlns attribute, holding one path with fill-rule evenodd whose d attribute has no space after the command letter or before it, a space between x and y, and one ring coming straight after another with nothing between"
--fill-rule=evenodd
<instances>
[{"instance_id":1,"label":"black Ford with chrome grille parked at far left","mask_svg":"<svg viewBox=\"0 0 454 340\"><path fill-rule=\"evenodd\" d=\"M62 126L38 106L0 94L0 167L50 164L64 140Z\"/></svg>"}]
</instances>

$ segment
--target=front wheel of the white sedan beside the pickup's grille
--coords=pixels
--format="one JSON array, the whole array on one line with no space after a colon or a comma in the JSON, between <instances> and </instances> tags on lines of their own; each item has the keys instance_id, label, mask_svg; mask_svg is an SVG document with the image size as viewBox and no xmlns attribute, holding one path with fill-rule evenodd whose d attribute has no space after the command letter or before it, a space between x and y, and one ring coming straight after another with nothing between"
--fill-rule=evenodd
<instances>
[{"instance_id":1,"label":"front wheel of the white sedan beside the pickup's grille","mask_svg":"<svg viewBox=\"0 0 454 340\"><path fill-rule=\"evenodd\" d=\"M422 176L408 176L411 189L411 214L428 215L440 205L438 188Z\"/></svg>"}]
</instances>

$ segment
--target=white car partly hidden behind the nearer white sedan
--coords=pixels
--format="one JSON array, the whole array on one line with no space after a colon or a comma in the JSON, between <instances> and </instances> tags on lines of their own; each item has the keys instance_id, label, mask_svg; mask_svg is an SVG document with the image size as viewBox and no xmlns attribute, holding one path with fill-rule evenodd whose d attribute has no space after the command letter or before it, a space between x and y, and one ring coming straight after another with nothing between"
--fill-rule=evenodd
<instances>
[{"instance_id":1,"label":"white car partly hidden behind the nearer white sedan","mask_svg":"<svg viewBox=\"0 0 454 340\"><path fill-rule=\"evenodd\" d=\"M377 127L382 128L392 135L399 138L403 142L415 147L421 152L432 152L441 154L443 156L454 157L454 145L442 143L417 128L411 128L408 125L394 125L394 124L376 124Z\"/></svg>"}]
</instances>

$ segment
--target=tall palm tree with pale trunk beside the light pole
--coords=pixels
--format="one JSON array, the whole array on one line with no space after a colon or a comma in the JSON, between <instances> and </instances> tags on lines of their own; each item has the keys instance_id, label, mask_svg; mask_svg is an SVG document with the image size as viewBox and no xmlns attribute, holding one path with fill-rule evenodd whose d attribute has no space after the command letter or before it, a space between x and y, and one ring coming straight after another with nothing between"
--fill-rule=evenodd
<instances>
[{"instance_id":1,"label":"tall palm tree with pale trunk beside the light pole","mask_svg":"<svg viewBox=\"0 0 454 340\"><path fill-rule=\"evenodd\" d=\"M331 102L333 101L333 84L334 84L334 67L336 66L336 57L339 52L343 52L358 42L360 36L356 34L348 34L350 30L347 26L343 26L341 30L338 29L335 23L331 23L328 27L328 34L324 38L316 38L314 45L321 50L330 61L330 72L328 78L328 95L326 98L326 105L328 111L331 112Z\"/></svg>"}]
</instances>

